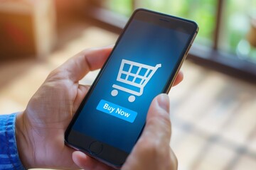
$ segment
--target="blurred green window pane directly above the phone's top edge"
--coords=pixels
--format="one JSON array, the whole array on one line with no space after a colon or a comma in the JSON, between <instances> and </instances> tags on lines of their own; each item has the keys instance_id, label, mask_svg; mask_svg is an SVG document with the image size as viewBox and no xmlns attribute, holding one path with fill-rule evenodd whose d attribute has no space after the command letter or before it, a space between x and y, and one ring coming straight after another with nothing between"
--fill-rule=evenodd
<instances>
[{"instance_id":1,"label":"blurred green window pane directly above the phone's top edge","mask_svg":"<svg viewBox=\"0 0 256 170\"><path fill-rule=\"evenodd\" d=\"M196 42L212 45L216 4L215 0L145 0L139 6L196 21L200 27Z\"/></svg>"}]
</instances>

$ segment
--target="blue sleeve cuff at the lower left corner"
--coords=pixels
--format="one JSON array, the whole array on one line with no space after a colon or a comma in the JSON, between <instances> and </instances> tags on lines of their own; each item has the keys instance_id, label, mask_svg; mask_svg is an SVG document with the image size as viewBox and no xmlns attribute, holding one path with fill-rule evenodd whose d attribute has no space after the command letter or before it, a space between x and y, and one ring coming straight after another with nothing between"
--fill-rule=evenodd
<instances>
[{"instance_id":1,"label":"blue sleeve cuff at the lower left corner","mask_svg":"<svg viewBox=\"0 0 256 170\"><path fill-rule=\"evenodd\" d=\"M15 137L16 115L0 115L0 169L25 169L18 157Z\"/></svg>"}]
</instances>

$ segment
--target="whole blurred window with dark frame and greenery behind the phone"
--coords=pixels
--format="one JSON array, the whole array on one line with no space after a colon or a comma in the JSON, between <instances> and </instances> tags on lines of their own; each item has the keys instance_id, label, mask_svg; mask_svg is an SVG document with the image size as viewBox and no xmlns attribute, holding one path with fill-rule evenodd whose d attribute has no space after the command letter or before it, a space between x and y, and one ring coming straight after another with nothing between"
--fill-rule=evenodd
<instances>
[{"instance_id":1,"label":"whole blurred window with dark frame and greenery behind the phone","mask_svg":"<svg viewBox=\"0 0 256 170\"><path fill-rule=\"evenodd\" d=\"M202 52L195 50L196 55L193 56L217 61L224 69L234 68L252 73L256 77L256 0L97 0L97 2L100 8L127 18L135 8L149 8L196 21L200 28L196 45L203 50ZM203 52L206 50L210 54L208 57L205 57L207 52Z\"/></svg>"}]
</instances>

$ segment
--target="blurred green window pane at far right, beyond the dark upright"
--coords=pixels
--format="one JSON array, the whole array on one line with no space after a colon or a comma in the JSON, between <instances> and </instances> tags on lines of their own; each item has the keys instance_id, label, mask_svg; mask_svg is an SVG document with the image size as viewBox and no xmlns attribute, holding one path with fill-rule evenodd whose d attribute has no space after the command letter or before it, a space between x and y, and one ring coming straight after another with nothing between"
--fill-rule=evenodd
<instances>
[{"instance_id":1,"label":"blurred green window pane at far right, beyond the dark upright","mask_svg":"<svg viewBox=\"0 0 256 170\"><path fill-rule=\"evenodd\" d=\"M219 49L256 62L256 0L228 0L223 7Z\"/></svg>"}]
</instances>

